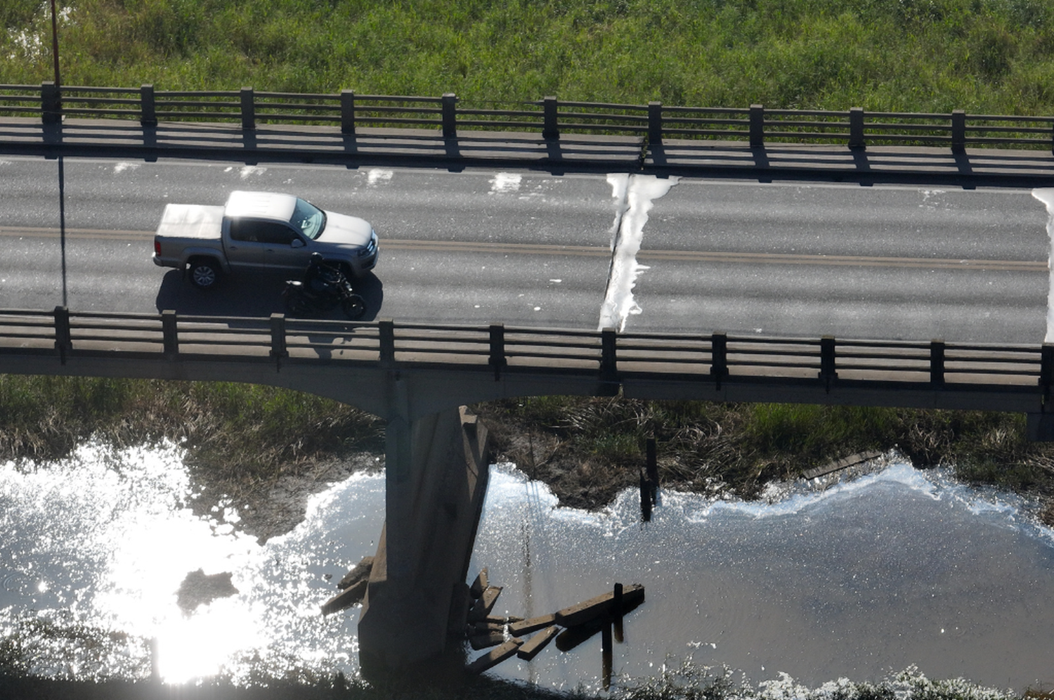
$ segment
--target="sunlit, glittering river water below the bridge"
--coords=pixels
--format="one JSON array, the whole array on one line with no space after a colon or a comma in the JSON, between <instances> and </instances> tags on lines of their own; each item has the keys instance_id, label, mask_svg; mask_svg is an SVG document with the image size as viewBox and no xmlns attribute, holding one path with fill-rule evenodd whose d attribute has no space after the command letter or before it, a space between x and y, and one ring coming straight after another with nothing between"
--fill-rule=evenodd
<instances>
[{"instance_id":1,"label":"sunlit, glittering river water below the bridge","mask_svg":"<svg viewBox=\"0 0 1054 700\"><path fill-rule=\"evenodd\" d=\"M357 608L323 618L334 582L373 553L384 478L359 474L312 499L265 545L237 505L187 507L180 452L85 446L38 469L0 467L0 626L32 670L169 682L225 674L357 672ZM504 586L496 610L525 617L642 583L614 670L649 677L691 659L752 683L878 681L917 664L931 678L1023 691L1054 683L1054 534L1029 504L904 464L770 503L662 493L639 522L636 492L589 513L508 465L492 470L473 573ZM230 571L238 594L187 615L188 572ZM601 685L599 638L492 673L547 687ZM472 653L474 655L474 653ZM781 680L784 679L784 680Z\"/></svg>"}]
</instances>

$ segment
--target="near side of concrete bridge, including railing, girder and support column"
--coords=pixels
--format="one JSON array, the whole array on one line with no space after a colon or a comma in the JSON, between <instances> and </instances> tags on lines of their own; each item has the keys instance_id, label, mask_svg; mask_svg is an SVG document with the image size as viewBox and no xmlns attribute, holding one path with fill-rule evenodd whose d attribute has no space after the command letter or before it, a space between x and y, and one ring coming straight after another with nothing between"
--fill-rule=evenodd
<instances>
[{"instance_id":1,"label":"near side of concrete bridge, including railing, girder and support column","mask_svg":"<svg viewBox=\"0 0 1054 700\"><path fill-rule=\"evenodd\" d=\"M1054 346L617 333L0 310L0 373L266 384L387 421L386 523L359 622L364 669L442 656L467 605L486 428L463 404L529 395L1023 412L1054 440ZM451 621L455 621L453 624Z\"/></svg>"}]
</instances>

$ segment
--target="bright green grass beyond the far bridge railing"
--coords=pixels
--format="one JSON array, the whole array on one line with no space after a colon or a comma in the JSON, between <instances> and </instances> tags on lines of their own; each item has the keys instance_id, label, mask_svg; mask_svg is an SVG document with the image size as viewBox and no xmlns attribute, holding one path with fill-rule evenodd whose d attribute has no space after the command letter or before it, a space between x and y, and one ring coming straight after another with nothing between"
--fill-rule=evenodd
<instances>
[{"instance_id":1,"label":"bright green grass beyond the far bridge railing","mask_svg":"<svg viewBox=\"0 0 1054 700\"><path fill-rule=\"evenodd\" d=\"M1051 114L1047 0L66 0L71 85ZM0 82L52 79L0 3Z\"/></svg>"}]
</instances>

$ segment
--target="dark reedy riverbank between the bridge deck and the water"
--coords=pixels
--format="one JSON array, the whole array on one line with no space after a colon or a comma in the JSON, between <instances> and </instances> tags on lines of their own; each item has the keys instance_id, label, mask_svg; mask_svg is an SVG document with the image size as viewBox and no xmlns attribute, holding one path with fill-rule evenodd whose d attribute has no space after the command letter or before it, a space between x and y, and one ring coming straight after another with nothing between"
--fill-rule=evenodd
<instances>
[{"instance_id":1,"label":"dark reedy riverbank between the bridge deck and the water","mask_svg":"<svg viewBox=\"0 0 1054 700\"><path fill-rule=\"evenodd\" d=\"M1054 446L1028 442L1019 414L618 396L472 408L490 427L495 456L546 482L567 506L600 508L637 485L649 438L663 485L701 493L753 499L769 482L876 450L953 467L968 482L1054 495ZM46 463L92 438L180 445L206 505L227 497L258 509L279 480L310 479L319 463L364 452L373 456L357 464L383 464L384 454L380 420L288 389L0 375L0 460Z\"/></svg>"}]
</instances>

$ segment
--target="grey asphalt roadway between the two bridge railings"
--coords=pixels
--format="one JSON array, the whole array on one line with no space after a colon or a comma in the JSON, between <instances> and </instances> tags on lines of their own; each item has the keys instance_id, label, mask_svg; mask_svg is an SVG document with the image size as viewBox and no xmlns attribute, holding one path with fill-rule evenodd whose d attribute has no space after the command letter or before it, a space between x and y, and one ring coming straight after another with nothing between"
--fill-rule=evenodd
<instances>
[{"instance_id":1,"label":"grey asphalt roadway between the two bridge railings","mask_svg":"<svg viewBox=\"0 0 1054 700\"><path fill-rule=\"evenodd\" d=\"M0 308L280 311L285 275L200 292L152 262L164 203L234 189L370 220L368 318L976 343L1047 330L1048 215L1029 190L33 157L0 158Z\"/></svg>"}]
</instances>

